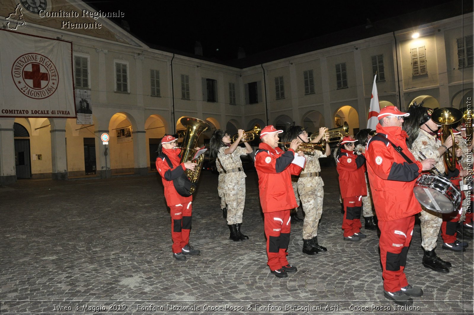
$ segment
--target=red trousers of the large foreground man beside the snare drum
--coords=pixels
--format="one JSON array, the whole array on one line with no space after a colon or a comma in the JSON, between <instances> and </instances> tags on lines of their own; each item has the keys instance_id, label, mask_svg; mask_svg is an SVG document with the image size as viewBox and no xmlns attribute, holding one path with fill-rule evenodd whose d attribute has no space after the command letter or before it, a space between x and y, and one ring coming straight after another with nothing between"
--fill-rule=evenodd
<instances>
[{"instance_id":1,"label":"red trousers of the large foreground man beside the snare drum","mask_svg":"<svg viewBox=\"0 0 474 315\"><path fill-rule=\"evenodd\" d=\"M408 247L414 225L414 215L393 221L378 222L380 261L382 262L383 289L385 291L396 292L408 285L403 270L407 262Z\"/></svg>"}]
</instances>

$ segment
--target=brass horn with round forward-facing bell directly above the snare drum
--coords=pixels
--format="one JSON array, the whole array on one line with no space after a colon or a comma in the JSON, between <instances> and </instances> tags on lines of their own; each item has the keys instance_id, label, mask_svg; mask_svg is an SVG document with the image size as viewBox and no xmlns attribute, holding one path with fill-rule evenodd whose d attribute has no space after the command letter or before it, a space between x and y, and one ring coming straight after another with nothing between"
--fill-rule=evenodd
<instances>
[{"instance_id":1,"label":"brass horn with round forward-facing bell directly above the snare drum","mask_svg":"<svg viewBox=\"0 0 474 315\"><path fill-rule=\"evenodd\" d=\"M463 118L463 113L456 108L438 108L431 114L431 120L441 125L441 144L443 144L449 136L453 139L453 146L447 149L443 155L445 167L450 171L456 169L456 143L453 130L450 127L452 124L461 120L461 118Z\"/></svg>"}]
</instances>

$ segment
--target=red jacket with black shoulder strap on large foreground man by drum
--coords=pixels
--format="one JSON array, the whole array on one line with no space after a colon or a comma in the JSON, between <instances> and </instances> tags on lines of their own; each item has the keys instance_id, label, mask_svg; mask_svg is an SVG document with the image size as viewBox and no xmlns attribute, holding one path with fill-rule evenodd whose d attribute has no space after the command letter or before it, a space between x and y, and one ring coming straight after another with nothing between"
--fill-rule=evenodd
<instances>
[{"instance_id":1,"label":"red jacket with black shoulder strap on large foreground man by drum","mask_svg":"<svg viewBox=\"0 0 474 315\"><path fill-rule=\"evenodd\" d=\"M407 133L401 127L382 127L380 124L377 124L376 130L395 146L400 146L402 152L413 161L409 164L386 141L372 138L367 143L365 158L377 219L391 221L419 213L421 206L415 198L413 187L422 166L407 148Z\"/></svg>"}]
</instances>

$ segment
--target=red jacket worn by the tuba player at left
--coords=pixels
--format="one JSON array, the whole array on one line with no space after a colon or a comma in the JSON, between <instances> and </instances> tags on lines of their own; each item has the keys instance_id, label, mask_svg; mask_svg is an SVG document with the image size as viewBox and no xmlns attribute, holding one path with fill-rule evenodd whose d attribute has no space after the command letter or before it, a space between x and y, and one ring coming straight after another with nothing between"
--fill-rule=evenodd
<instances>
[{"instance_id":1,"label":"red jacket worn by the tuba player at left","mask_svg":"<svg viewBox=\"0 0 474 315\"><path fill-rule=\"evenodd\" d=\"M156 158L156 169L161 175L164 186L164 197L166 198L166 204L168 206L176 204L188 204L192 201L192 195L189 197L183 197L178 194L173 185L173 179L178 178L186 169L184 163L180 163L179 154L181 149L163 149L163 153L166 154L170 160L173 168L169 167L168 162L165 158Z\"/></svg>"}]
</instances>

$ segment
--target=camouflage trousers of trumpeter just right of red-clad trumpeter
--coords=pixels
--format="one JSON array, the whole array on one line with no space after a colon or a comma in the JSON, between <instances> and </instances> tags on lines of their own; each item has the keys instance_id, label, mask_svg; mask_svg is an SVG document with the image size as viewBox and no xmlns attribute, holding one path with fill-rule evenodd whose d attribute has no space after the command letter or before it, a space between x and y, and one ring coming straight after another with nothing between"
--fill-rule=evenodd
<instances>
[{"instance_id":1,"label":"camouflage trousers of trumpeter just right of red-clad trumpeter","mask_svg":"<svg viewBox=\"0 0 474 315\"><path fill-rule=\"evenodd\" d=\"M300 193L301 204L305 213L303 222L303 239L309 240L318 235L318 224L323 213L324 190L321 184L315 185L313 181L308 185L308 179L300 179L298 182L298 192Z\"/></svg>"}]
</instances>

